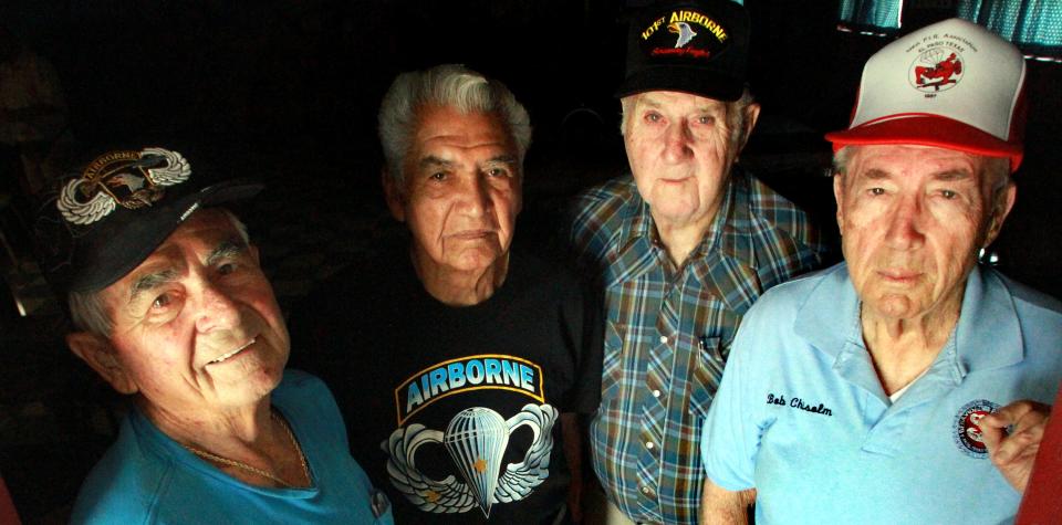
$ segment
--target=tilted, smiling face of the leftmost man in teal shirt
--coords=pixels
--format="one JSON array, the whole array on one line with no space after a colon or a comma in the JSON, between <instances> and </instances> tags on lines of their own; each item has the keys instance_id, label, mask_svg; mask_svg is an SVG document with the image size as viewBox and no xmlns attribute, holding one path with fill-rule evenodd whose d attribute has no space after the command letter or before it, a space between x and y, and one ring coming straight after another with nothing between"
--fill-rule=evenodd
<instances>
[{"instance_id":1,"label":"tilted, smiling face of the leftmost man in teal shirt","mask_svg":"<svg viewBox=\"0 0 1062 525\"><path fill-rule=\"evenodd\" d=\"M196 212L102 293L115 388L164 411L244 407L281 379L289 338L258 252L223 212ZM124 382L123 382L124 381Z\"/></svg>"}]
</instances>

